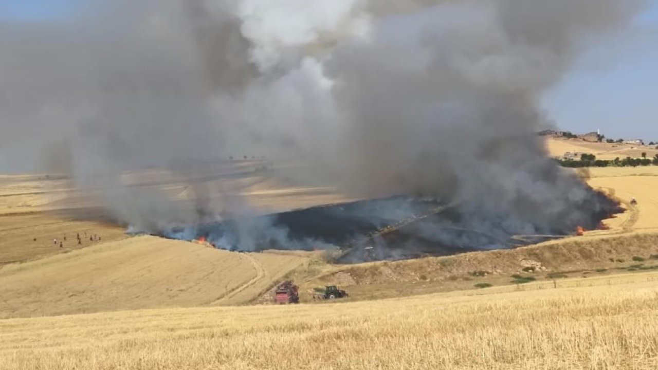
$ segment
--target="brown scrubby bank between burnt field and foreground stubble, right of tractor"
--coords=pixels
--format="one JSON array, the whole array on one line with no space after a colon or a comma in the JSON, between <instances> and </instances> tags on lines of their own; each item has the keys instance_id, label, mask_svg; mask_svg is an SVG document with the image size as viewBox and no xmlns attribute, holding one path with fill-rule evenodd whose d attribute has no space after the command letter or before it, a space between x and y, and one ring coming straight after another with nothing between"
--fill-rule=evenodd
<instances>
[{"instance_id":1,"label":"brown scrubby bank between burnt field and foreground stubble, right of tractor","mask_svg":"<svg viewBox=\"0 0 658 370\"><path fill-rule=\"evenodd\" d=\"M647 259L645 265L653 266L658 263L649 260L653 254L658 254L658 234L633 233L570 238L514 250L479 251L450 257L328 266L299 279L303 281L301 300L313 302L313 288L330 284L345 288L351 300L373 300L471 289L478 282L510 285L513 274L543 281L550 280L547 275L551 273L567 272L569 277L580 277L583 273L595 273L596 269L627 268L634 263L635 255ZM541 269L526 273L523 268L528 265ZM485 272L486 276L474 276L475 271Z\"/></svg>"}]
</instances>

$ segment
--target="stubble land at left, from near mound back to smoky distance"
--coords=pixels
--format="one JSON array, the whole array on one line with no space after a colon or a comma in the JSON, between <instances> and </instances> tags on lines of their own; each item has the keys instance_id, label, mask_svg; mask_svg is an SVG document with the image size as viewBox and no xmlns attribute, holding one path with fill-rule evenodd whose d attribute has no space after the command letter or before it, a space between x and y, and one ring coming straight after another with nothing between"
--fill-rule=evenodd
<instances>
[{"instance_id":1,"label":"stubble land at left, from near mound back to smoky distance","mask_svg":"<svg viewBox=\"0 0 658 370\"><path fill-rule=\"evenodd\" d=\"M286 174L259 165L219 163L198 180L263 211L347 199L332 188L291 186ZM181 176L166 171L124 177L126 186L155 187L172 199L193 196ZM0 175L0 317L244 304L307 262L130 238L93 194L76 190L66 176Z\"/></svg>"}]
</instances>

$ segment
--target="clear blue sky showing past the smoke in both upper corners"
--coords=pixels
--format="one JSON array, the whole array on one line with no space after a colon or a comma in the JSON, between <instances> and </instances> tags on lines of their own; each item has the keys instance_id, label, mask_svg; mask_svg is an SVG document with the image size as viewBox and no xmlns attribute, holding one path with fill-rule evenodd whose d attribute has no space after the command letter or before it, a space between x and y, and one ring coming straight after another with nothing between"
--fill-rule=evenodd
<instances>
[{"instance_id":1,"label":"clear blue sky showing past the smoke in both upper corners","mask_svg":"<svg viewBox=\"0 0 658 370\"><path fill-rule=\"evenodd\" d=\"M59 20L76 13L84 3L0 0L0 21ZM637 17L629 37L592 47L545 94L542 105L559 128L600 129L609 138L658 142L658 1L651 3Z\"/></svg>"}]
</instances>

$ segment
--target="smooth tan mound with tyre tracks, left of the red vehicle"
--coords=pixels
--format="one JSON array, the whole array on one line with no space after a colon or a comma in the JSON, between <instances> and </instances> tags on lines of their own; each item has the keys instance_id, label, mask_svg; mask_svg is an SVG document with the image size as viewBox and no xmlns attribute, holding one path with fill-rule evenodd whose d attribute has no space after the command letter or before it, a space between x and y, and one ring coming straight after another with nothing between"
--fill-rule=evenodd
<instances>
[{"instance_id":1,"label":"smooth tan mound with tyre tracks, left of the red vehicle","mask_svg":"<svg viewBox=\"0 0 658 370\"><path fill-rule=\"evenodd\" d=\"M151 236L0 269L0 317L242 304L306 259Z\"/></svg>"}]
</instances>

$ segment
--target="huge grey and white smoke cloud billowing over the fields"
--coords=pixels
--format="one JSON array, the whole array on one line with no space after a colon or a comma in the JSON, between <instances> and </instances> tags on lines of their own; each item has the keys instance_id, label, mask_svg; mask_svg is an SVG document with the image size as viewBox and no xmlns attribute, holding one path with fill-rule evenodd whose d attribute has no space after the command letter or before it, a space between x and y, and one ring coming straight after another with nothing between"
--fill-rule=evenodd
<instances>
[{"instance_id":1,"label":"huge grey and white smoke cloud billowing over the fields","mask_svg":"<svg viewBox=\"0 0 658 370\"><path fill-rule=\"evenodd\" d=\"M145 231L218 209L203 189L190 211L128 188L122 171L253 153L305 159L352 194L451 199L480 228L542 232L592 194L546 158L540 95L643 4L95 1L67 22L0 24L0 145L83 188L102 178L109 209Z\"/></svg>"}]
</instances>

